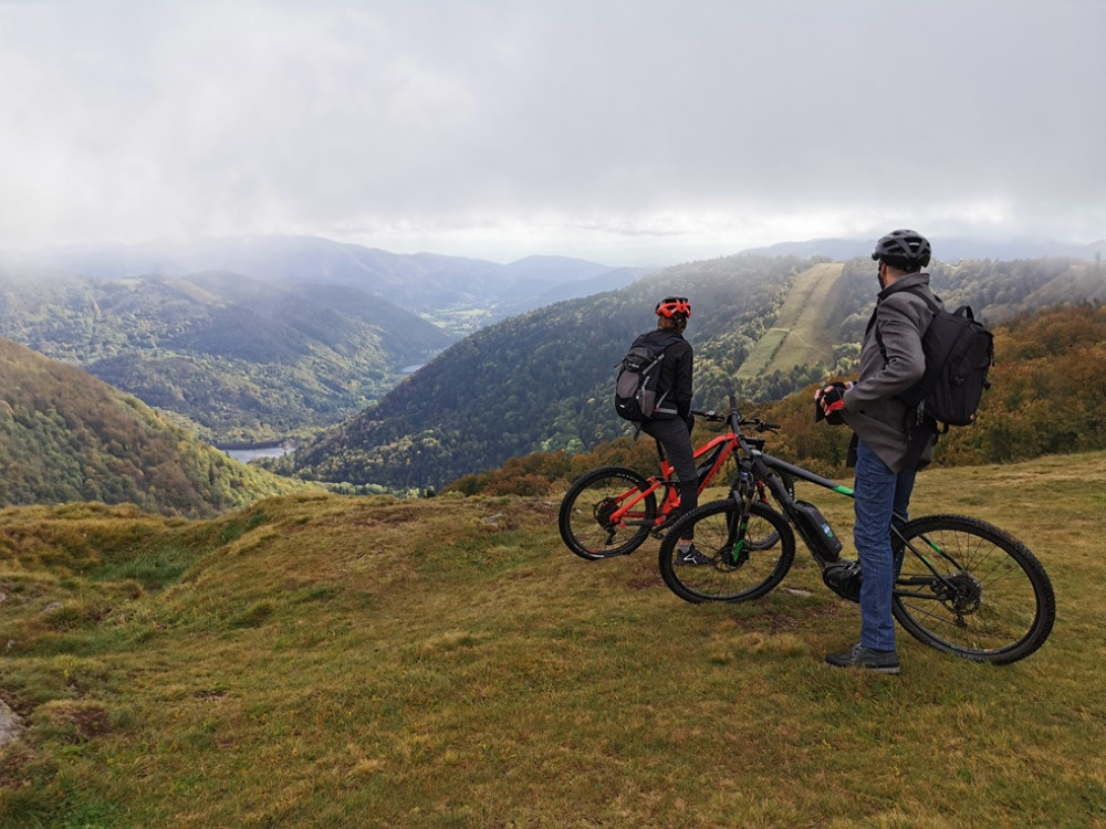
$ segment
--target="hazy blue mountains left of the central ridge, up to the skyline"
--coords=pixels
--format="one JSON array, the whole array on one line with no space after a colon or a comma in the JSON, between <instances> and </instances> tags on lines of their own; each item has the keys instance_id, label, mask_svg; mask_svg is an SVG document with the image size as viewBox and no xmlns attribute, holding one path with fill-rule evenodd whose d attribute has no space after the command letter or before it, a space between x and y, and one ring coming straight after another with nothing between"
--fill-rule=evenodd
<instances>
[{"instance_id":1,"label":"hazy blue mountains left of the central ridge, up to the skyline","mask_svg":"<svg viewBox=\"0 0 1106 829\"><path fill-rule=\"evenodd\" d=\"M273 441L352 417L497 319L639 275L300 237L9 252L0 336L174 412L206 440Z\"/></svg>"}]
</instances>

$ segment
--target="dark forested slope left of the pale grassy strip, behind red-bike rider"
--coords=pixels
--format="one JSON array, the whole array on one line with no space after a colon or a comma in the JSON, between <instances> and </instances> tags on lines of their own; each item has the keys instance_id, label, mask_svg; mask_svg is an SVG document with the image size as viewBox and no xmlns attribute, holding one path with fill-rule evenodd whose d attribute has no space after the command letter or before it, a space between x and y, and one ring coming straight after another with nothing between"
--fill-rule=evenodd
<instances>
[{"instance_id":1,"label":"dark forested slope left of the pale grassy strip, behind red-bike rider","mask_svg":"<svg viewBox=\"0 0 1106 829\"><path fill-rule=\"evenodd\" d=\"M801 266L748 256L696 263L491 326L278 468L420 487L535 449L578 451L611 439L624 429L611 401L613 366L656 325L654 305L669 293L693 297L688 336L700 393L724 396Z\"/></svg>"}]
</instances>

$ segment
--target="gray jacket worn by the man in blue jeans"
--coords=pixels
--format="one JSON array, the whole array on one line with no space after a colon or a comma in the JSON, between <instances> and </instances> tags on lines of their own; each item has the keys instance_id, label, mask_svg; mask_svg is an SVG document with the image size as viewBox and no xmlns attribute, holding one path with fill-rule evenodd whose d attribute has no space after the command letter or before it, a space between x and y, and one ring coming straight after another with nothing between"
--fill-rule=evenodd
<instances>
[{"instance_id":1,"label":"gray jacket worn by the man in blue jeans","mask_svg":"<svg viewBox=\"0 0 1106 829\"><path fill-rule=\"evenodd\" d=\"M918 285L929 291L928 273L911 273L879 292L860 346L860 376L844 395L842 419L893 472L901 471L908 445L907 407L897 396L926 372L921 335L933 318L925 298L909 290ZM932 459L933 443L919 469Z\"/></svg>"}]
</instances>

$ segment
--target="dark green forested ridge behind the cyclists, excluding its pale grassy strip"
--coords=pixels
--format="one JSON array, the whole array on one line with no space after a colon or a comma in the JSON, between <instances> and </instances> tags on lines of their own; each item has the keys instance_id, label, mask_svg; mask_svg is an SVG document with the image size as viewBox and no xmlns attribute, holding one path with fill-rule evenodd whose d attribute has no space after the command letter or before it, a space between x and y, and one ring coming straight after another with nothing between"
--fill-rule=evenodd
<instances>
[{"instance_id":1,"label":"dark green forested ridge behind the cyclists, excluding its pale grassy strip","mask_svg":"<svg viewBox=\"0 0 1106 829\"><path fill-rule=\"evenodd\" d=\"M626 433L613 412L613 366L633 336L655 325L669 293L692 298L687 337L696 348L696 400L730 393L779 400L847 375L878 291L873 263L852 260L826 297L823 326L836 330L832 359L749 382L735 374L776 321L796 274L824 260L730 256L668 269L622 291L560 303L486 328L400 384L378 405L284 459L279 468L324 481L438 486L541 450L570 453ZM1106 301L1096 264L1047 259L935 263L935 291L970 304L990 324L1047 298Z\"/></svg>"}]
</instances>

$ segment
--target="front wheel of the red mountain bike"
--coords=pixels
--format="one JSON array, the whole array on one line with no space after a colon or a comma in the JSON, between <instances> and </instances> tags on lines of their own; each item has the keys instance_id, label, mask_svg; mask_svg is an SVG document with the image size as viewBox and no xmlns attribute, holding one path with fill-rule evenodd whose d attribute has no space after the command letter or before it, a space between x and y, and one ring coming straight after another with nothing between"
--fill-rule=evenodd
<instances>
[{"instance_id":1,"label":"front wheel of the red mountain bike","mask_svg":"<svg viewBox=\"0 0 1106 829\"><path fill-rule=\"evenodd\" d=\"M657 517L655 494L646 495L634 508L634 524L612 524L603 513L626 492L644 492L649 485L645 475L627 466L603 466L585 472L573 481L561 500L557 513L561 539L568 549L589 562L633 553L653 529Z\"/></svg>"}]
</instances>

